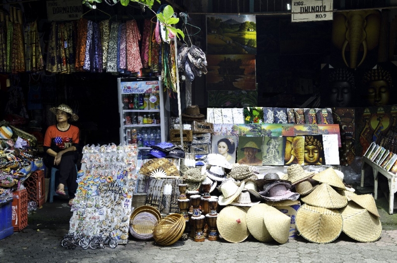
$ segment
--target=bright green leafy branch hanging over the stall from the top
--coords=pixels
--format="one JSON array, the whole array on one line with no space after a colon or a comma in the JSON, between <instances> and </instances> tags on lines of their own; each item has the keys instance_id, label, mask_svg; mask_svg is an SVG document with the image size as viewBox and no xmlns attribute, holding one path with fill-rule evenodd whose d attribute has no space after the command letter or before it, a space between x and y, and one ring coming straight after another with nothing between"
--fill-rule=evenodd
<instances>
[{"instance_id":1,"label":"bright green leafy branch hanging over the stall from the top","mask_svg":"<svg viewBox=\"0 0 397 263\"><path fill-rule=\"evenodd\" d=\"M116 4L119 0L112 0L114 4ZM168 39L168 33L171 31L174 35L176 35L179 39L184 39L185 34L181 29L176 28L174 25L178 24L179 18L174 17L174 8L172 8L171 5L167 5L164 7L163 12L156 13L153 11L151 8L154 4L154 0L120 0L120 3L123 6L129 5L131 2L137 2L139 4L142 4L143 6L147 6L156 16L157 19L165 26L167 32L165 34L166 39ZM160 3L160 0L156 0L158 3ZM96 3L102 3L102 0L82 0L82 4L85 6L92 8L93 4Z\"/></svg>"}]
</instances>

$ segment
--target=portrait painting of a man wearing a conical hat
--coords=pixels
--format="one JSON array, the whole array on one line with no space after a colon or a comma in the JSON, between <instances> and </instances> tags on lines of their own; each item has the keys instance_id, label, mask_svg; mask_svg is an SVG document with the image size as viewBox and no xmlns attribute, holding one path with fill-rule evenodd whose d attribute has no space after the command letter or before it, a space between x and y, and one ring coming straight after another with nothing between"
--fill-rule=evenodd
<instances>
[{"instance_id":1,"label":"portrait painting of a man wearing a conical hat","mask_svg":"<svg viewBox=\"0 0 397 263\"><path fill-rule=\"evenodd\" d=\"M262 144L263 137L239 136L239 145L242 145L242 147L239 147L237 153L237 163L248 165L262 165Z\"/></svg>"}]
</instances>

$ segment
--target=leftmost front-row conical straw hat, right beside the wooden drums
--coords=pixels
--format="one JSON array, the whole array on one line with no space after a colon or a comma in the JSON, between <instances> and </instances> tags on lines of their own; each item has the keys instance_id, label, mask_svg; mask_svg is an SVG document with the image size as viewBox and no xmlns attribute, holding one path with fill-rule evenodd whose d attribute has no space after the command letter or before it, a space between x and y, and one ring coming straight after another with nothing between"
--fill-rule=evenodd
<instances>
[{"instance_id":1,"label":"leftmost front-row conical straw hat, right beside the wooden drums","mask_svg":"<svg viewBox=\"0 0 397 263\"><path fill-rule=\"evenodd\" d=\"M222 238L231 243L242 242L250 234L247 227L247 212L233 205L226 206L219 212L216 226Z\"/></svg>"}]
</instances>

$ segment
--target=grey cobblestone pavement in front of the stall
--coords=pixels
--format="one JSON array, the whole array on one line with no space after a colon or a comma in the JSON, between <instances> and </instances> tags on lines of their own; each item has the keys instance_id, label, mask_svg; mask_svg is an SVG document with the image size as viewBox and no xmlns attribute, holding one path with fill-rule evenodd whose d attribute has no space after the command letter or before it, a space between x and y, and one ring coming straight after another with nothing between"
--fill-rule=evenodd
<instances>
[{"instance_id":1,"label":"grey cobblestone pavement in front of the stall","mask_svg":"<svg viewBox=\"0 0 397 263\"><path fill-rule=\"evenodd\" d=\"M154 241L129 240L115 249L66 250L60 241L66 229L25 229L0 241L1 263L232 263L232 262L397 262L397 230L384 230L380 240L359 243L344 235L330 244L313 244L303 238L280 245L248 239L242 243L192 239L168 246Z\"/></svg>"}]
</instances>

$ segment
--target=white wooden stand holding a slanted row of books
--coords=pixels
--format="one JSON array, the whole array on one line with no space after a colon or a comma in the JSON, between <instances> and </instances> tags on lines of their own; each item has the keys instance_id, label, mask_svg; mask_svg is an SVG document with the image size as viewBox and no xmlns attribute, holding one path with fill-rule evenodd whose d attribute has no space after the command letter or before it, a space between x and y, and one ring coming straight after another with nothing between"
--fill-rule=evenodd
<instances>
[{"instance_id":1,"label":"white wooden stand holding a slanted row of books","mask_svg":"<svg viewBox=\"0 0 397 263\"><path fill-rule=\"evenodd\" d=\"M393 214L394 209L394 194L397 192L397 175L392 174L379 165L372 162L367 157L363 156L363 161L361 163L361 187L364 187L364 168L365 164L372 167L374 173L374 198L378 199L378 174L384 175L388 179L389 183L389 214Z\"/></svg>"}]
</instances>

